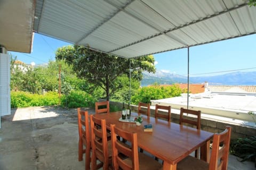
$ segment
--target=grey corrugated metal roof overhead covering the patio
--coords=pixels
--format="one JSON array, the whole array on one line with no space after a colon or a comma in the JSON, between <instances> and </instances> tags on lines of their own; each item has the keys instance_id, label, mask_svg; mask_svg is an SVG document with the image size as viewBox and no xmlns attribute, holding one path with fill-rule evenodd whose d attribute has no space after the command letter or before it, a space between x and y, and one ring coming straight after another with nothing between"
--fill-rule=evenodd
<instances>
[{"instance_id":1,"label":"grey corrugated metal roof overhead covering the patio","mask_svg":"<svg viewBox=\"0 0 256 170\"><path fill-rule=\"evenodd\" d=\"M256 33L243 0L37 0L34 31L126 58Z\"/></svg>"}]
</instances>

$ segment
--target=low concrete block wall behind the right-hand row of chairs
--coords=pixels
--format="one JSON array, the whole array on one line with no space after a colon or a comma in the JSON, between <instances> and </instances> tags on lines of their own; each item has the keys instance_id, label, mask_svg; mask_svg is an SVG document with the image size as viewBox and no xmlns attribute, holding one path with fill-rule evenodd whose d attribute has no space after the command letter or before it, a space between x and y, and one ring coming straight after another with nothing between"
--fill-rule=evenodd
<instances>
[{"instance_id":1,"label":"low concrete block wall behind the right-hand row of chairs","mask_svg":"<svg viewBox=\"0 0 256 170\"><path fill-rule=\"evenodd\" d=\"M122 108L123 104L110 101L110 105L116 105ZM125 106L127 107L127 105ZM132 112L138 112L138 106L131 105ZM160 111L161 112L161 111ZM166 112L162 112L166 113ZM167 114L167 113L166 113ZM203 115L203 114L202 114ZM205 114L204 114L205 115ZM155 106L150 106L150 116L155 116ZM171 122L179 123L180 110L171 109ZM219 119L219 120L218 120ZM256 136L256 127L244 124L235 123L232 120L228 120L225 117L213 117L207 115L207 117L201 116L201 129L212 133L220 133L225 130L226 126L231 126L231 140L237 138L244 138L249 136Z\"/></svg>"}]
</instances>

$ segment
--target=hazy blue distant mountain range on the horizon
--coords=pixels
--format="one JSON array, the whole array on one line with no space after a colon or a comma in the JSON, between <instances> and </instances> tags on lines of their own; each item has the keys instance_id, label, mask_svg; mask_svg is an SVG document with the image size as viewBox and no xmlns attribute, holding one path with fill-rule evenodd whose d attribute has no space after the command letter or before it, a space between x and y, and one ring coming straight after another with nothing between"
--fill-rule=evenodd
<instances>
[{"instance_id":1,"label":"hazy blue distant mountain range on the horizon","mask_svg":"<svg viewBox=\"0 0 256 170\"><path fill-rule=\"evenodd\" d=\"M225 85L254 85L256 86L255 72L233 72L222 75L214 75L209 77L190 77L189 83L201 84L205 81L209 84L225 84ZM187 83L187 77L175 73L165 73L156 71L155 74L143 72L141 86L148 86L157 82L158 84Z\"/></svg>"}]
</instances>

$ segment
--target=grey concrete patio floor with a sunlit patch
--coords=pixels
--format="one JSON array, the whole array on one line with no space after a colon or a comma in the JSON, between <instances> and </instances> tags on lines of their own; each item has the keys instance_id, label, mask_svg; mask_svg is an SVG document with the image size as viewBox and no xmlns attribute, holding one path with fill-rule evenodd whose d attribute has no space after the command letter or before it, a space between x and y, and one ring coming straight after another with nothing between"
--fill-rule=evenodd
<instances>
[{"instance_id":1,"label":"grey concrete patio floor with a sunlit patch","mask_svg":"<svg viewBox=\"0 0 256 170\"><path fill-rule=\"evenodd\" d=\"M88 109L93 113L92 109ZM0 169L85 169L78 162L76 109L28 107L2 116ZM230 155L228 169L256 169Z\"/></svg>"}]
</instances>

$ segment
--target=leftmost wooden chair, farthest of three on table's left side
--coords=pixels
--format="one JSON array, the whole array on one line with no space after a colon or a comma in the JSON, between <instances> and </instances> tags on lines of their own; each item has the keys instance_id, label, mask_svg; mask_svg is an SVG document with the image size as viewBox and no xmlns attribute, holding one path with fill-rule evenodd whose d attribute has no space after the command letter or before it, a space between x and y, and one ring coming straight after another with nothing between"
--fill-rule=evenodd
<instances>
[{"instance_id":1,"label":"leftmost wooden chair, farthest of three on table's left side","mask_svg":"<svg viewBox=\"0 0 256 170\"><path fill-rule=\"evenodd\" d=\"M91 142L90 142L90 126L89 116L87 111L81 111L77 108L78 117L78 161L83 160L83 154L85 153L85 169L90 169L91 162Z\"/></svg>"}]
</instances>

